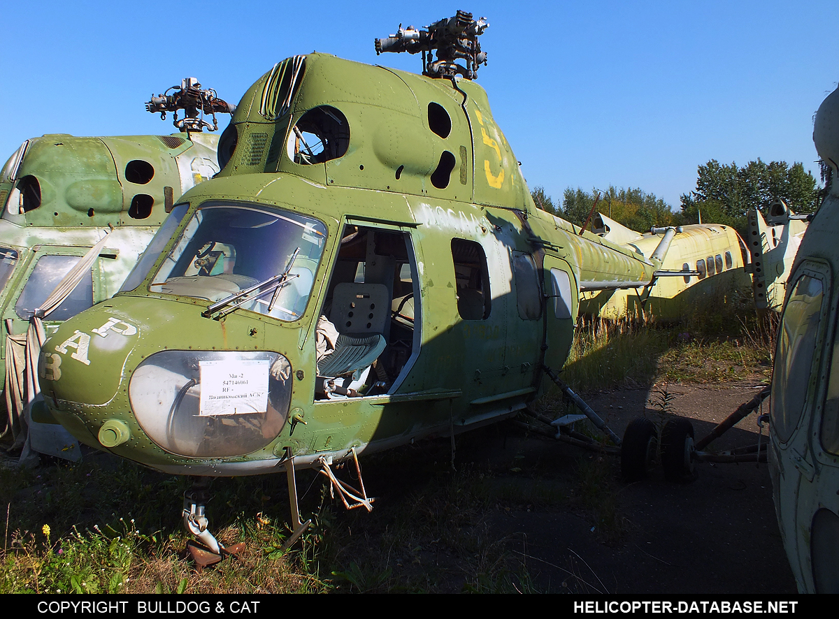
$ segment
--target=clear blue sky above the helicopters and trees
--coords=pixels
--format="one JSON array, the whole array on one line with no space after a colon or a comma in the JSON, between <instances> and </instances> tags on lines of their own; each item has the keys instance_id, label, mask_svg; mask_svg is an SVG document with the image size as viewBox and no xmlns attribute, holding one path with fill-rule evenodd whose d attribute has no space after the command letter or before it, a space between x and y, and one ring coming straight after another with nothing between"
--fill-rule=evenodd
<instances>
[{"instance_id":1,"label":"clear blue sky above the helicopters and trees","mask_svg":"<svg viewBox=\"0 0 839 619\"><path fill-rule=\"evenodd\" d=\"M709 159L800 161L818 178L812 117L839 80L835 0L397 6L6 3L0 159L43 133L173 132L143 101L187 75L237 102L313 49L419 72L418 56L377 58L373 39L461 8L490 23L478 83L531 189L640 187L678 209Z\"/></svg>"}]
</instances>

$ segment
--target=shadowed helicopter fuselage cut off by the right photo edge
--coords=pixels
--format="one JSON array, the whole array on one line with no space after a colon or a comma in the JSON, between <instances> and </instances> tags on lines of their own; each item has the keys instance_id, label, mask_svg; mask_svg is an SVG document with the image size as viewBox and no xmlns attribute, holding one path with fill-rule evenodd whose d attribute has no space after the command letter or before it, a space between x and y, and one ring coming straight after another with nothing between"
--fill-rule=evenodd
<instances>
[{"instance_id":1,"label":"shadowed helicopter fuselage cut off by the right photo edge","mask_svg":"<svg viewBox=\"0 0 839 619\"><path fill-rule=\"evenodd\" d=\"M831 168L827 195L800 243L772 377L770 473L775 511L802 592L839 592L839 358L836 218L839 90L821 103L813 141ZM831 181L832 179L832 181Z\"/></svg>"}]
</instances>

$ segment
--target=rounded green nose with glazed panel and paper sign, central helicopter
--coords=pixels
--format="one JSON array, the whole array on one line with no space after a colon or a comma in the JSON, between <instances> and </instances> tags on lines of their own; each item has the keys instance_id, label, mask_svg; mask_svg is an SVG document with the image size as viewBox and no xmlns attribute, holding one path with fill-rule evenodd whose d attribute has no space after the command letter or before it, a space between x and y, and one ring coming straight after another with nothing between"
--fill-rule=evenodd
<instances>
[{"instance_id":1,"label":"rounded green nose with glazed panel and paper sign, central helicopter","mask_svg":"<svg viewBox=\"0 0 839 619\"><path fill-rule=\"evenodd\" d=\"M265 448L288 416L289 358L259 350L247 317L196 314L125 296L65 321L39 362L50 413L81 442L150 466Z\"/></svg>"}]
</instances>

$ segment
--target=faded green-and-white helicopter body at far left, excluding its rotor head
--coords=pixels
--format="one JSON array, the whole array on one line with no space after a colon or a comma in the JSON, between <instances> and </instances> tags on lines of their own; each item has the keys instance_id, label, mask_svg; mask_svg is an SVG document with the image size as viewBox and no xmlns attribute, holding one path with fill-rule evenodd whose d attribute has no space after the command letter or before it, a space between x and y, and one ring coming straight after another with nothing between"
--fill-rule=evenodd
<instances>
[{"instance_id":1,"label":"faded green-and-white helicopter body at far left, excluding its rotor head","mask_svg":"<svg viewBox=\"0 0 839 619\"><path fill-rule=\"evenodd\" d=\"M52 134L18 148L0 176L0 318L4 339L13 340L0 350L0 376L6 356L23 345L36 309L106 234L89 273L44 317L44 325L52 330L117 292L174 201L218 171L217 143L203 133ZM21 360L6 378L9 417L3 433L17 434Z\"/></svg>"}]
</instances>

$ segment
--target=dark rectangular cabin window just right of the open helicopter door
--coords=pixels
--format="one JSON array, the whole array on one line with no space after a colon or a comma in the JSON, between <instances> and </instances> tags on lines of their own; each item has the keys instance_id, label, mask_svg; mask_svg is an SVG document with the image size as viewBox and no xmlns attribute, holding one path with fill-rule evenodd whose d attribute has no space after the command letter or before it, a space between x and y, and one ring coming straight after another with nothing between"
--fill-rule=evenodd
<instances>
[{"instance_id":1,"label":"dark rectangular cabin window just right of the open helicopter door","mask_svg":"<svg viewBox=\"0 0 839 619\"><path fill-rule=\"evenodd\" d=\"M487 254L480 243L451 239L455 266L457 313L463 320L487 320L492 305Z\"/></svg>"}]
</instances>

